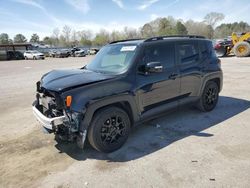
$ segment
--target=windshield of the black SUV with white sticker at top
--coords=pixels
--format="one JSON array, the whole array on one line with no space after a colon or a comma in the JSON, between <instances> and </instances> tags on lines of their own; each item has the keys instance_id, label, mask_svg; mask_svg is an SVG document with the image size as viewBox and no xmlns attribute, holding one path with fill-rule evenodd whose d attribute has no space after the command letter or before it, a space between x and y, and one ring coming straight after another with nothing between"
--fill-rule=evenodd
<instances>
[{"instance_id":1,"label":"windshield of the black SUV with white sticker at top","mask_svg":"<svg viewBox=\"0 0 250 188\"><path fill-rule=\"evenodd\" d=\"M101 72L119 74L126 71L134 57L136 45L117 44L103 47L86 69Z\"/></svg>"}]
</instances>

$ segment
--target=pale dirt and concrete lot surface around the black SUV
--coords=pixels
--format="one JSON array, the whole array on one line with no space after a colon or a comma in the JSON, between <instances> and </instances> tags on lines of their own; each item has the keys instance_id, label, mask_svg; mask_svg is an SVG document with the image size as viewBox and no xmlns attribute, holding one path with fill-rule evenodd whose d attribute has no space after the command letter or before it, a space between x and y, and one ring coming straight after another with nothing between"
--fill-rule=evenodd
<instances>
[{"instance_id":1,"label":"pale dirt and concrete lot surface around the black SUV","mask_svg":"<svg viewBox=\"0 0 250 188\"><path fill-rule=\"evenodd\" d=\"M182 108L135 128L101 154L58 144L31 110L35 83L92 57L0 62L0 187L250 187L250 58L223 58L209 113Z\"/></svg>"}]
</instances>

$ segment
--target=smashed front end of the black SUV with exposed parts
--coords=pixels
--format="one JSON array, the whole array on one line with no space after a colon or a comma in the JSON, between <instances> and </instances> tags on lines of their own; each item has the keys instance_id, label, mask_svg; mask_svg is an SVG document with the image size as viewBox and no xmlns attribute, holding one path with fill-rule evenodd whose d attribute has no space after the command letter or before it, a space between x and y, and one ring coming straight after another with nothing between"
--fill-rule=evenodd
<instances>
[{"instance_id":1,"label":"smashed front end of the black SUV with exposed parts","mask_svg":"<svg viewBox=\"0 0 250 188\"><path fill-rule=\"evenodd\" d=\"M72 111L67 107L66 99L57 92L46 90L37 83L36 100L32 105L36 119L46 133L54 133L61 140L77 141L83 148L86 130L80 132L79 127L83 114Z\"/></svg>"}]
</instances>

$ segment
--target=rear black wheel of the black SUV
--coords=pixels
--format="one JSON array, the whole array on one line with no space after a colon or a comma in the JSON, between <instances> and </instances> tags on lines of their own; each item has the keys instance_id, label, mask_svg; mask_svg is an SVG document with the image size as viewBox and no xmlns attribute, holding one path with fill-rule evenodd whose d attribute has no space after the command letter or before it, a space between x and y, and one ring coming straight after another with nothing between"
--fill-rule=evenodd
<instances>
[{"instance_id":1,"label":"rear black wheel of the black SUV","mask_svg":"<svg viewBox=\"0 0 250 188\"><path fill-rule=\"evenodd\" d=\"M198 109L203 112L212 111L218 102L219 87L214 81L208 81L198 102Z\"/></svg>"}]
</instances>

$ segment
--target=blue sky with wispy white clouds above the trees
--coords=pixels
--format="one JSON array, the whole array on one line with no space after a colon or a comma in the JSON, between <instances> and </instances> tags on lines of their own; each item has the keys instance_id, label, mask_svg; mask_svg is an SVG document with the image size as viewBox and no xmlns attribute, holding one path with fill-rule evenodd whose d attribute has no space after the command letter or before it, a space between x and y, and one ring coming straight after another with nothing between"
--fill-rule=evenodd
<instances>
[{"instance_id":1,"label":"blue sky with wispy white clouds above the trees","mask_svg":"<svg viewBox=\"0 0 250 188\"><path fill-rule=\"evenodd\" d=\"M50 36L64 25L76 31L122 30L142 27L158 17L202 21L209 12L225 15L223 22L250 24L250 0L0 0L0 33L29 38Z\"/></svg>"}]
</instances>

